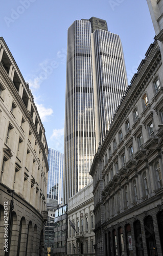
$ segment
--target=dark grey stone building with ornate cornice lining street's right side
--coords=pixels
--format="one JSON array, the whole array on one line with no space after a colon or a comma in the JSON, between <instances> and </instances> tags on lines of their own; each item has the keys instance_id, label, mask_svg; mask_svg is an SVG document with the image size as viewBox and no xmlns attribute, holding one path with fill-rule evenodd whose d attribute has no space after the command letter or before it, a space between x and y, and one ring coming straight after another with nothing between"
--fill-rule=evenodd
<instances>
[{"instance_id":1,"label":"dark grey stone building with ornate cornice lining street's right side","mask_svg":"<svg viewBox=\"0 0 163 256\"><path fill-rule=\"evenodd\" d=\"M96 255L163 254L162 93L163 66L154 40L90 169Z\"/></svg>"}]
</instances>

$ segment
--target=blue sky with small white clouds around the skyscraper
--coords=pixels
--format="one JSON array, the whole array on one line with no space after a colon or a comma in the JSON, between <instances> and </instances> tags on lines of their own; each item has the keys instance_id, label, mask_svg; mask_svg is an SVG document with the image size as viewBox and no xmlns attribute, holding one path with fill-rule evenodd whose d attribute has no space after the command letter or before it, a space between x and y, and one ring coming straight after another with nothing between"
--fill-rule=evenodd
<instances>
[{"instance_id":1,"label":"blue sky with small white clouds around the skyscraper","mask_svg":"<svg viewBox=\"0 0 163 256\"><path fill-rule=\"evenodd\" d=\"M105 19L121 37L128 82L154 41L146 0L8 0L1 34L34 95L48 146L63 153L67 29L74 20Z\"/></svg>"}]
</instances>

